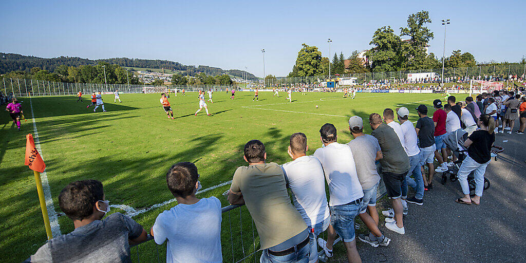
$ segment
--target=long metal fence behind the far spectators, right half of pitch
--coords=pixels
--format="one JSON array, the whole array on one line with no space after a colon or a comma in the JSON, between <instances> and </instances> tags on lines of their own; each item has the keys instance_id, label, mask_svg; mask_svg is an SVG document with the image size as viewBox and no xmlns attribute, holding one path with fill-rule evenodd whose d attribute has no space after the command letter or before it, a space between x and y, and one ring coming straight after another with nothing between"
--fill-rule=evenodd
<instances>
[{"instance_id":1,"label":"long metal fence behind the far spectators, right half of pitch","mask_svg":"<svg viewBox=\"0 0 526 263\"><path fill-rule=\"evenodd\" d=\"M439 83L442 76L442 68L403 70L393 72L369 72L369 73L345 73L339 77L356 77L359 84L370 82L389 82L389 83L414 83L409 82L408 74L414 73L434 73L434 79L422 80L416 83ZM518 78L526 74L526 64L499 64L494 66L476 66L460 68L444 68L444 82L464 82L468 83L470 79L508 80L509 75ZM331 76L334 78L334 76ZM279 86L298 86L298 85L315 85L328 79L327 75L306 76L306 77L276 77L266 78L266 87ZM438 79L437 79L438 78ZM438 80L438 81L437 81Z\"/></svg>"}]
</instances>

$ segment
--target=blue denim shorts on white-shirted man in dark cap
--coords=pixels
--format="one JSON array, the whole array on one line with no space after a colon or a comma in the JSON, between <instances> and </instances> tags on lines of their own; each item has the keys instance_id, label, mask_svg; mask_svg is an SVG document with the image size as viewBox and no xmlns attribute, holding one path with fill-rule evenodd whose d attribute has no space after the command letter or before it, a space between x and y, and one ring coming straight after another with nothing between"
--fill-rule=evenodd
<instances>
[{"instance_id":1,"label":"blue denim shorts on white-shirted man in dark cap","mask_svg":"<svg viewBox=\"0 0 526 263\"><path fill-rule=\"evenodd\" d=\"M360 213L362 204L329 206L330 224L343 242L355 240L355 217Z\"/></svg>"}]
</instances>

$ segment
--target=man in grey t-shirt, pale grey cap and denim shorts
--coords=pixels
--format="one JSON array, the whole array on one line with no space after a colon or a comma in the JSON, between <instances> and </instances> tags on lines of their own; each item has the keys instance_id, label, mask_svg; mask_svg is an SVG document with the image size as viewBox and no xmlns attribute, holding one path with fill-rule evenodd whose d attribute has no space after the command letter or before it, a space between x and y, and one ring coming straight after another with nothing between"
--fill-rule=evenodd
<instances>
[{"instance_id":1,"label":"man in grey t-shirt, pale grey cap and denim shorts","mask_svg":"<svg viewBox=\"0 0 526 263\"><path fill-rule=\"evenodd\" d=\"M356 165L356 173L363 190L363 206L360 219L367 225L369 235L359 235L358 238L373 247L387 246L391 239L383 236L378 228L378 211L376 210L376 196L380 175L376 169L375 161L382 158L382 151L378 140L363 134L363 119L352 116L349 119L349 129L353 139L347 143L351 148L352 157ZM369 213L367 213L369 212Z\"/></svg>"}]
</instances>

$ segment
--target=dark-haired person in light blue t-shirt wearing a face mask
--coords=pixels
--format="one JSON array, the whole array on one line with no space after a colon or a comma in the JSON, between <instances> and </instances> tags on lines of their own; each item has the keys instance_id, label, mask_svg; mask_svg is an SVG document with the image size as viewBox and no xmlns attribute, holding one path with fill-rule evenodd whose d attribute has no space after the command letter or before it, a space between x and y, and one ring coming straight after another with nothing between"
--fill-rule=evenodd
<instances>
[{"instance_id":1,"label":"dark-haired person in light blue t-shirt wearing a face mask","mask_svg":"<svg viewBox=\"0 0 526 263\"><path fill-rule=\"evenodd\" d=\"M166 245L166 262L222 262L221 202L216 197L198 199L197 167L188 161L170 167L166 183L177 205L155 219L150 234Z\"/></svg>"}]
</instances>

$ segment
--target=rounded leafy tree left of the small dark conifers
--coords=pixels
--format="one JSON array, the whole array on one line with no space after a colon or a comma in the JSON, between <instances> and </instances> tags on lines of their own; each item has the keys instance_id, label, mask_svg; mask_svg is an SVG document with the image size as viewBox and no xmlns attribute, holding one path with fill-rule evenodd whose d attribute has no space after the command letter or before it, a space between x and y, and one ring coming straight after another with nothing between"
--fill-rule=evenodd
<instances>
[{"instance_id":1,"label":"rounded leafy tree left of the small dark conifers","mask_svg":"<svg viewBox=\"0 0 526 263\"><path fill-rule=\"evenodd\" d=\"M292 67L290 77L315 76L322 73L321 52L316 46L301 44L302 48L298 52L296 64Z\"/></svg>"}]
</instances>

